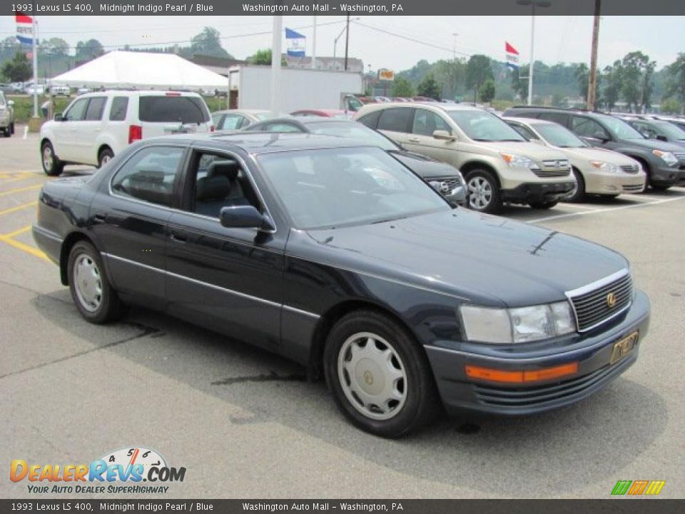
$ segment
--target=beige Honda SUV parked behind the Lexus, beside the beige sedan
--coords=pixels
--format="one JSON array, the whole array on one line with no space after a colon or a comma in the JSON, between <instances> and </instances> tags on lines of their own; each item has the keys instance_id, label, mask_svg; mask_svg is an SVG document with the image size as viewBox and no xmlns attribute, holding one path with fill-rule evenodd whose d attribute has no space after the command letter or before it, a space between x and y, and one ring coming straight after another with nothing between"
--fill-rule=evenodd
<instances>
[{"instance_id":1,"label":"beige Honda SUV parked behind the Lexus, beside the beige sedan","mask_svg":"<svg viewBox=\"0 0 685 514\"><path fill-rule=\"evenodd\" d=\"M367 104L355 120L408 151L456 166L469 187L469 206L494 213L502 202L550 208L576 181L564 153L529 143L502 119L460 104Z\"/></svg>"}]
</instances>

